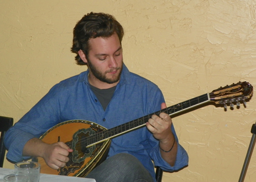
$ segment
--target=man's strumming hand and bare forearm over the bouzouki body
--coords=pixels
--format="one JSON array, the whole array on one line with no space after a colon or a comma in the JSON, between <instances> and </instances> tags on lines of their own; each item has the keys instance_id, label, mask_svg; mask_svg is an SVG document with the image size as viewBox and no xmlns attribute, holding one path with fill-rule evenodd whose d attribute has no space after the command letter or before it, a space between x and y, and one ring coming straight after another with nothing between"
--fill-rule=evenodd
<instances>
[{"instance_id":1,"label":"man's strumming hand and bare forearm over the bouzouki body","mask_svg":"<svg viewBox=\"0 0 256 182\"><path fill-rule=\"evenodd\" d=\"M73 150L63 142L47 144L38 138L30 139L24 146L23 155L31 157L41 157L46 164L59 169L64 167L69 161L69 152Z\"/></svg>"}]
</instances>

